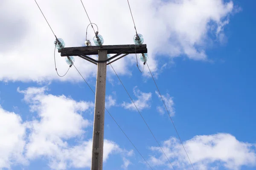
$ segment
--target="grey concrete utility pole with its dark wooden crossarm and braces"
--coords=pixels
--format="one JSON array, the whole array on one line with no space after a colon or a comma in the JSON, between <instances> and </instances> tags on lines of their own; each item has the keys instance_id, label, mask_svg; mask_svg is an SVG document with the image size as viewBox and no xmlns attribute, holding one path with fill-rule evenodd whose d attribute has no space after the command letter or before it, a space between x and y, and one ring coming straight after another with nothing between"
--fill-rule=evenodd
<instances>
[{"instance_id":1,"label":"grey concrete utility pole with its dark wooden crossarm and braces","mask_svg":"<svg viewBox=\"0 0 256 170\"><path fill-rule=\"evenodd\" d=\"M105 91L107 65L115 62L128 54L135 54L135 45L102 45L86 47L68 47L59 49L62 57L79 56L82 59L98 65L95 110L93 124L93 150L91 170L102 170L103 167L103 140L105 118ZM146 44L136 45L136 53L147 53ZM93 59L87 55L99 55L99 59ZM116 54L107 59L107 54ZM122 55L123 54L123 55ZM119 57L122 55L121 57ZM118 57L118 58L116 58ZM111 61L112 60L112 61Z\"/></svg>"}]
</instances>

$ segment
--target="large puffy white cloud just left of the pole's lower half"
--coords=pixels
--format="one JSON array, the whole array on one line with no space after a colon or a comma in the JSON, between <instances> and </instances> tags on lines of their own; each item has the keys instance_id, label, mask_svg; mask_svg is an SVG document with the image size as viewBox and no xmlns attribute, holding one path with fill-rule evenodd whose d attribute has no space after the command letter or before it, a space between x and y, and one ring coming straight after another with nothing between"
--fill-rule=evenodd
<instances>
[{"instance_id":1,"label":"large puffy white cloud just left of the pole's lower half","mask_svg":"<svg viewBox=\"0 0 256 170\"><path fill-rule=\"evenodd\" d=\"M28 88L18 92L24 94L31 111L38 113L38 119L27 122L30 130L26 144L26 157L36 159L46 156L53 169L66 169L67 160L73 159L70 155L76 147L71 147L67 139L81 137L84 128L92 125L79 112L93 108L92 102L76 102L66 96L46 94L47 88ZM84 144L82 144L84 145ZM72 148L72 149L70 149ZM88 151L89 152L89 151Z\"/></svg>"}]
</instances>

